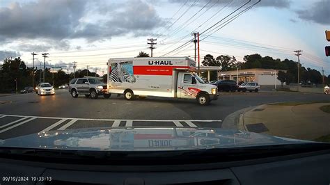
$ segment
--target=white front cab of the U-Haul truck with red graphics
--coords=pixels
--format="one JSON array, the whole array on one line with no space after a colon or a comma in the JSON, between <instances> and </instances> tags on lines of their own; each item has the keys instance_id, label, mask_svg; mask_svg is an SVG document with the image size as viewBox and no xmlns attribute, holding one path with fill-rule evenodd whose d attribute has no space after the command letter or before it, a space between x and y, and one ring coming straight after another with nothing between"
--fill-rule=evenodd
<instances>
[{"instance_id":1,"label":"white front cab of the U-Haul truck with red graphics","mask_svg":"<svg viewBox=\"0 0 330 185\"><path fill-rule=\"evenodd\" d=\"M191 72L178 72L177 97L197 99L201 105L206 105L218 99L217 86L205 83L201 77Z\"/></svg>"}]
</instances>

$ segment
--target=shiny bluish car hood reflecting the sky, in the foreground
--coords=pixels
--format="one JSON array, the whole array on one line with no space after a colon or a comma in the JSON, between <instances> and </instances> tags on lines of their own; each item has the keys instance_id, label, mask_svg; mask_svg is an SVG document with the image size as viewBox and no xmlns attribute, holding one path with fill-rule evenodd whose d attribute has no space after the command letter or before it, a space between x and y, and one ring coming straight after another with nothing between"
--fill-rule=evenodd
<instances>
[{"instance_id":1,"label":"shiny bluish car hood reflecting the sky, in the foreground","mask_svg":"<svg viewBox=\"0 0 330 185\"><path fill-rule=\"evenodd\" d=\"M175 151L295 143L313 142L228 129L110 127L47 131L19 136L0 140L0 147L96 151Z\"/></svg>"}]
</instances>

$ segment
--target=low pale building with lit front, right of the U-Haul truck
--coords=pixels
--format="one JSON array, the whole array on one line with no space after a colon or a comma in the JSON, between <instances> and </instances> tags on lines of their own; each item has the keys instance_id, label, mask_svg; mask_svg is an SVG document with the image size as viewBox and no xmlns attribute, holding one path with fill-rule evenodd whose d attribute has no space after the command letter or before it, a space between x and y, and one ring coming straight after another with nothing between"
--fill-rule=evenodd
<instances>
[{"instance_id":1,"label":"low pale building with lit front, right of the U-Haul truck","mask_svg":"<svg viewBox=\"0 0 330 185\"><path fill-rule=\"evenodd\" d=\"M277 79L278 71L285 70L273 70L273 69L246 69L246 70L233 70L233 71L226 71L221 72L218 71L218 79L227 79L227 80L234 80L239 82L246 82L246 81L256 81L259 85L281 85L281 81Z\"/></svg>"}]
</instances>

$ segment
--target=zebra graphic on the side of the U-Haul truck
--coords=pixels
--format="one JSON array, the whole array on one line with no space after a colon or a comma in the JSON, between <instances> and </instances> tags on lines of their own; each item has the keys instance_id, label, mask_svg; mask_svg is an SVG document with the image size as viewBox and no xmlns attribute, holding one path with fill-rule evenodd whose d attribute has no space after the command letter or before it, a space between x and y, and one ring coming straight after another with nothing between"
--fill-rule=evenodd
<instances>
[{"instance_id":1,"label":"zebra graphic on the side of the U-Haul truck","mask_svg":"<svg viewBox=\"0 0 330 185\"><path fill-rule=\"evenodd\" d=\"M119 64L119 66L118 66ZM110 81L135 83L136 78L133 75L133 61L122 63L111 63Z\"/></svg>"}]
</instances>

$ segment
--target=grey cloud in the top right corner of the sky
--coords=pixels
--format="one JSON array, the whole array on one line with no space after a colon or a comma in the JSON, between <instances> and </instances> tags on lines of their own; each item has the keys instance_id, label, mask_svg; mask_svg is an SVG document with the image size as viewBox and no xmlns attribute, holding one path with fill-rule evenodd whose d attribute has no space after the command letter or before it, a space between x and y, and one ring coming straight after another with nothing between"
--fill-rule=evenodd
<instances>
[{"instance_id":1,"label":"grey cloud in the top right corner of the sky","mask_svg":"<svg viewBox=\"0 0 330 185\"><path fill-rule=\"evenodd\" d=\"M300 19L315 22L318 24L330 24L330 1L322 0L313 3L308 10L297 10Z\"/></svg>"}]
</instances>

